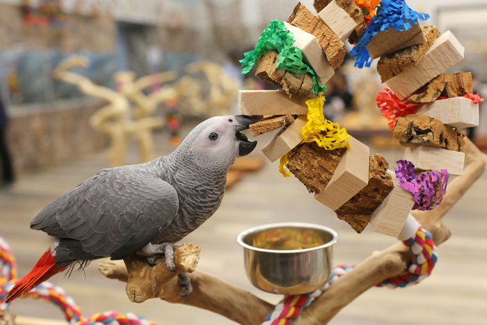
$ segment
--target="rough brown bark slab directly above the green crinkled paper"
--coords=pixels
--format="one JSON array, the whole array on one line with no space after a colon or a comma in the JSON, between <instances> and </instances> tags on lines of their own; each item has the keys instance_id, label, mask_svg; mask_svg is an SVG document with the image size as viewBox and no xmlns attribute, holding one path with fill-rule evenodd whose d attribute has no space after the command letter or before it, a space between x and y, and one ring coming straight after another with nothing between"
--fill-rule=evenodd
<instances>
[{"instance_id":1,"label":"rough brown bark slab directly above the green crinkled paper","mask_svg":"<svg viewBox=\"0 0 487 325\"><path fill-rule=\"evenodd\" d=\"M292 15L287 19L289 24L296 26L306 33L312 34L325 52L328 62L333 70L342 65L346 48L342 40L333 33L321 20L315 16L301 2L294 7ZM295 44L296 45L296 44ZM323 81L325 83L326 81Z\"/></svg>"}]
</instances>

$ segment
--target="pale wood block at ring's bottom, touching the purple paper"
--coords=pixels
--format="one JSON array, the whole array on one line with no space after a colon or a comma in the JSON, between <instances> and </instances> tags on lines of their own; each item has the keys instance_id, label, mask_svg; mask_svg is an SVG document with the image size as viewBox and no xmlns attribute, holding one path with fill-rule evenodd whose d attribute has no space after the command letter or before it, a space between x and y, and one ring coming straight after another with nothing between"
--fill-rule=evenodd
<instances>
[{"instance_id":1,"label":"pale wood block at ring's bottom, touching the purple paper","mask_svg":"<svg viewBox=\"0 0 487 325\"><path fill-rule=\"evenodd\" d=\"M414 199L412 193L401 187L394 171L388 171L388 174L392 177L394 188L372 213L370 224L374 231L397 238L413 208Z\"/></svg>"}]
</instances>

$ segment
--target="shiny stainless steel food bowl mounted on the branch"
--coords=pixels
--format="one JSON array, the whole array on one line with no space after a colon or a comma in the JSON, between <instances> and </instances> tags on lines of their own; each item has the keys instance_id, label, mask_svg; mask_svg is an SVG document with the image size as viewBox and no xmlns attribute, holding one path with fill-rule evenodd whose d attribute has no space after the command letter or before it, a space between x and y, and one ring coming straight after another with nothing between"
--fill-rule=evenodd
<instances>
[{"instance_id":1,"label":"shiny stainless steel food bowl mounted on the branch","mask_svg":"<svg viewBox=\"0 0 487 325\"><path fill-rule=\"evenodd\" d=\"M312 223L271 223L241 232L247 276L275 294L305 294L322 287L333 265L338 233Z\"/></svg>"}]
</instances>

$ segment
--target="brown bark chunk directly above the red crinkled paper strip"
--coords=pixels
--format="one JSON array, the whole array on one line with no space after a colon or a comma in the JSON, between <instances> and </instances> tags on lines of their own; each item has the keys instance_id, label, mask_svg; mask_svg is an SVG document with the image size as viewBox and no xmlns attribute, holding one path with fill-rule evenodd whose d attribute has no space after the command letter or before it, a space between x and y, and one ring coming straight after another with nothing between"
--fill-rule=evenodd
<instances>
[{"instance_id":1,"label":"brown bark chunk directly above the red crinkled paper strip","mask_svg":"<svg viewBox=\"0 0 487 325\"><path fill-rule=\"evenodd\" d=\"M442 73L408 97L408 102L431 103L443 96L460 97L473 93L470 72Z\"/></svg>"}]
</instances>

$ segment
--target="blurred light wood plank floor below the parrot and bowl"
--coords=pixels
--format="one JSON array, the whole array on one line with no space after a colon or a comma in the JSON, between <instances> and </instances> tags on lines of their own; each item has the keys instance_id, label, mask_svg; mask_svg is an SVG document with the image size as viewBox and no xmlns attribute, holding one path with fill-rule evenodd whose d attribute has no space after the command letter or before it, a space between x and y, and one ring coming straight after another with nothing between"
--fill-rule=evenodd
<instances>
[{"instance_id":1,"label":"blurred light wood plank floor below the parrot and bowl","mask_svg":"<svg viewBox=\"0 0 487 325\"><path fill-rule=\"evenodd\" d=\"M165 136L158 135L156 142L160 154L170 151ZM266 138L262 138L255 150L257 154L265 143ZM390 162L402 156L400 150L371 148L372 152L380 152ZM136 156L129 160L136 162ZM44 233L29 230L31 219L51 200L104 167L106 160L99 154L20 177L13 187L0 191L0 232L17 257L21 276L51 244ZM453 236L440 246L439 261L431 278L407 289L373 288L342 310L330 324L487 324L486 215L487 175L484 175L445 218ZM330 209L315 201L294 177L282 177L277 163L269 163L261 171L246 174L227 191L216 214L184 241L201 247L198 269L277 302L280 296L260 292L248 282L242 248L235 237L252 226L280 221L319 223L335 228L341 237L335 246L335 264L356 264L395 240L369 228L361 235L356 234ZM160 325L234 324L205 310L156 299L130 303L125 285L104 278L96 267L97 262L93 262L84 273L51 279L73 296L85 315L118 310L136 312ZM18 315L63 319L61 312L45 301L19 299L12 308Z\"/></svg>"}]
</instances>

